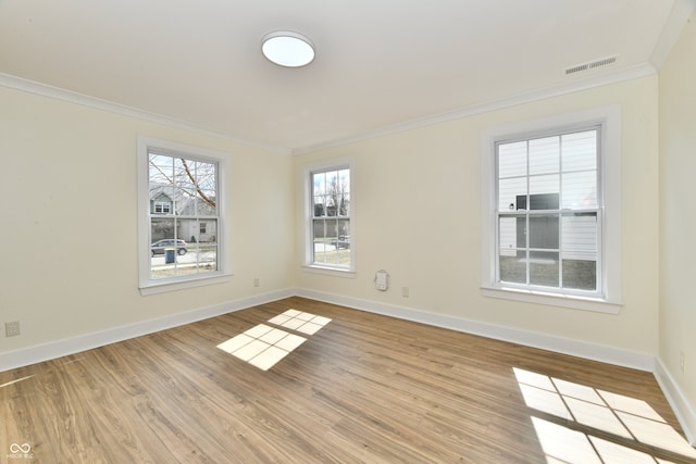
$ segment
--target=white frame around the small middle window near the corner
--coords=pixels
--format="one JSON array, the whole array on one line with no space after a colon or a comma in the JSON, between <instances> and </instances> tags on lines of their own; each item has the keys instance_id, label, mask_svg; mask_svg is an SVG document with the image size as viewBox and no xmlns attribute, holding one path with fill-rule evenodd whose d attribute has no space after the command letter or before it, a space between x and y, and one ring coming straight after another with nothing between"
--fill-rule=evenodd
<instances>
[{"instance_id":1,"label":"white frame around the small middle window near the corner","mask_svg":"<svg viewBox=\"0 0 696 464\"><path fill-rule=\"evenodd\" d=\"M356 275L356 201L353 189L355 162L350 158L334 159L325 162L308 164L302 171L302 185L304 186L304 255L303 267L307 271L320 274L334 275L339 277L355 277ZM350 222L350 266L334 266L325 263L314 263L312 248L314 246L313 229L313 198L312 198L312 175L324 171L345 170L350 171L350 208L348 220Z\"/></svg>"}]
</instances>

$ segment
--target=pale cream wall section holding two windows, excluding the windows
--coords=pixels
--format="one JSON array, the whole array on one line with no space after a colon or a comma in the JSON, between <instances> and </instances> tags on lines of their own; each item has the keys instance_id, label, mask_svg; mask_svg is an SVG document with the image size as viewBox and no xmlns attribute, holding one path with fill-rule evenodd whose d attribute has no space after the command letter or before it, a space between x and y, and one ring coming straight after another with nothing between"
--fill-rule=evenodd
<instances>
[{"instance_id":1,"label":"pale cream wall section holding two windows, excluding the windows","mask_svg":"<svg viewBox=\"0 0 696 464\"><path fill-rule=\"evenodd\" d=\"M617 315L483 297L480 138L497 126L609 104L622 106L623 296ZM353 156L355 278L299 267L298 287L611 347L658 352L658 78L644 77L319 150L295 159L298 236L302 166ZM301 237L296 246L301 247ZM378 292L377 269L391 289ZM409 298L401 288L409 288Z\"/></svg>"}]
</instances>

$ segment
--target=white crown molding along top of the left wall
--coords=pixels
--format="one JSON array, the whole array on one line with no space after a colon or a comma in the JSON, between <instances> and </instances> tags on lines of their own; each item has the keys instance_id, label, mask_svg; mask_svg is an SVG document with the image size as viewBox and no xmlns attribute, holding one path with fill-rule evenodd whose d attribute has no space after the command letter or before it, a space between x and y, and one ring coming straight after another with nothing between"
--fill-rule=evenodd
<instances>
[{"instance_id":1,"label":"white crown molding along top of the left wall","mask_svg":"<svg viewBox=\"0 0 696 464\"><path fill-rule=\"evenodd\" d=\"M161 124L163 126L174 127L177 129L190 130L198 134L229 140L235 143L240 143L248 147L259 148L259 149L283 153L283 154L290 154L291 152L288 148L285 148L285 147L245 140L219 130L212 130L206 127L200 127L195 124L188 123L186 121L181 121L174 117L164 116L162 114L152 113L149 111L140 110L133 106L127 106L120 103L114 103L109 100L102 100L96 97L90 97L90 96L78 93L72 90L62 89L60 87L37 83L35 80L24 79L22 77L16 77L10 74L0 73L0 87L21 90L28 93L35 93L41 97L47 97L54 100L61 100L67 103L79 104L79 105L91 108L95 110L105 111L105 112L119 114L122 116L147 121L149 123Z\"/></svg>"}]
</instances>

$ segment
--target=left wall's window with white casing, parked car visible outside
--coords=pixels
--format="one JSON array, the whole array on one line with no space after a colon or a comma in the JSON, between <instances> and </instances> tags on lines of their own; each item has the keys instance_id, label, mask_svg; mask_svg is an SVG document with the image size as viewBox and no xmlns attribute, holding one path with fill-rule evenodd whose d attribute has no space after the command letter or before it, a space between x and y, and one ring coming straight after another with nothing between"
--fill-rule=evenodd
<instances>
[{"instance_id":1,"label":"left wall's window with white casing, parked car visible outside","mask_svg":"<svg viewBox=\"0 0 696 464\"><path fill-rule=\"evenodd\" d=\"M181 288L223 275L224 158L140 138L138 162L140 288Z\"/></svg>"}]
</instances>

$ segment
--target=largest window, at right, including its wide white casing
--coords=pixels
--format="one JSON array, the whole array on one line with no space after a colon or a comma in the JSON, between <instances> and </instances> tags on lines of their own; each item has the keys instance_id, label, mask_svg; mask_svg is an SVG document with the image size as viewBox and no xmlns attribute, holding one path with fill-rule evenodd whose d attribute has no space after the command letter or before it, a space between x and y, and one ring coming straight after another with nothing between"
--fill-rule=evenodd
<instances>
[{"instance_id":1,"label":"largest window, at right, including its wide white casing","mask_svg":"<svg viewBox=\"0 0 696 464\"><path fill-rule=\"evenodd\" d=\"M484 135L485 294L619 302L618 120L598 110Z\"/></svg>"}]
</instances>

